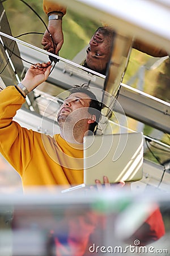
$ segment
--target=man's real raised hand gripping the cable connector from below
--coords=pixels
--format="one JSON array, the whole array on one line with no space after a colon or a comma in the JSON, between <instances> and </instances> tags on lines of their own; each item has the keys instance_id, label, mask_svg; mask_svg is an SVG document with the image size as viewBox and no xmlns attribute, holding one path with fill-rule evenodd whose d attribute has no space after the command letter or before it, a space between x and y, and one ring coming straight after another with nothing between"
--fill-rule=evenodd
<instances>
[{"instance_id":1,"label":"man's real raised hand gripping the cable connector from below","mask_svg":"<svg viewBox=\"0 0 170 256\"><path fill-rule=\"evenodd\" d=\"M31 92L31 90L35 89L38 85L48 79L51 67L50 61L47 63L36 63L35 65L31 65L22 80L22 84L27 87L28 92Z\"/></svg>"}]
</instances>

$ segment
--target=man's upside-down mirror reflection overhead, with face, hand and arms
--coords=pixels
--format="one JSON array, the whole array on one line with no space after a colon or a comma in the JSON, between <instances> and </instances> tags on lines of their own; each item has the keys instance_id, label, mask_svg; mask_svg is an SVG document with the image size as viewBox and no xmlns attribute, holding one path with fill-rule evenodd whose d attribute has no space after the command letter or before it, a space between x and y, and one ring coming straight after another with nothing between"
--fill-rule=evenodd
<instances>
[{"instance_id":1,"label":"man's upside-down mirror reflection overhead, with face, hand and arms","mask_svg":"<svg viewBox=\"0 0 170 256\"><path fill-rule=\"evenodd\" d=\"M46 15L48 15L49 31L45 31L41 44L45 50L57 54L63 44L62 17L66 14L66 7L59 5L57 1L43 0L43 9ZM97 28L87 48L86 60L83 63L84 67L105 75L114 35L115 32L111 27ZM160 49L138 39L134 40L132 47L154 57L168 55L165 49Z\"/></svg>"}]
</instances>

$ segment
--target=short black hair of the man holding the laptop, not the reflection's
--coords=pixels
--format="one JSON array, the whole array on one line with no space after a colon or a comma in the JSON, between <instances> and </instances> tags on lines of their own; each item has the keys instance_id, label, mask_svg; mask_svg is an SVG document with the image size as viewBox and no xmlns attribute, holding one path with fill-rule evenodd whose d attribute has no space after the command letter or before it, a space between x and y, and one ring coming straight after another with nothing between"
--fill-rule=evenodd
<instances>
[{"instance_id":1,"label":"short black hair of the man holding the laptop, not the reflection's","mask_svg":"<svg viewBox=\"0 0 170 256\"><path fill-rule=\"evenodd\" d=\"M97 127L101 118L101 109L102 109L101 102L97 100L95 94L91 92L87 84L75 85L69 91L70 91L70 94L78 93L78 92L85 93L91 98L88 112L92 115L95 115L96 121L90 124L89 130L94 133L95 128Z\"/></svg>"}]
</instances>

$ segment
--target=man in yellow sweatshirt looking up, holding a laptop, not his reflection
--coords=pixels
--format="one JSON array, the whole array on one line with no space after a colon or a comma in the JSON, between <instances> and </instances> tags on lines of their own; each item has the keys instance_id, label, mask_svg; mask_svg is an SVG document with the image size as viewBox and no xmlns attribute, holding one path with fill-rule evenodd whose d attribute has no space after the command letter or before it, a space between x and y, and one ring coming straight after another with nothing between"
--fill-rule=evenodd
<instances>
[{"instance_id":1,"label":"man in yellow sweatshirt looking up, holding a laptop, not his reflection","mask_svg":"<svg viewBox=\"0 0 170 256\"><path fill-rule=\"evenodd\" d=\"M0 151L22 177L23 188L83 183L83 136L99 122L100 102L84 88L73 88L64 101L58 113L61 134L53 138L12 121L26 94L47 79L50 67L50 62L32 65L22 83L0 93Z\"/></svg>"}]
</instances>

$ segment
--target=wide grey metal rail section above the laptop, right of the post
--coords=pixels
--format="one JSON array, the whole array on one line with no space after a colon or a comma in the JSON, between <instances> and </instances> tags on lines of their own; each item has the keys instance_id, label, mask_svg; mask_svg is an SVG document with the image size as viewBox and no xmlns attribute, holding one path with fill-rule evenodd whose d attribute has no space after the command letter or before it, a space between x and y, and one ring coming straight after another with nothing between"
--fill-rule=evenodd
<instances>
[{"instance_id":1,"label":"wide grey metal rail section above the laptop, right of the post","mask_svg":"<svg viewBox=\"0 0 170 256\"><path fill-rule=\"evenodd\" d=\"M118 102L128 117L170 133L170 103L125 84L121 84Z\"/></svg>"}]
</instances>

